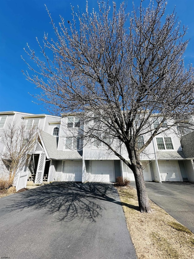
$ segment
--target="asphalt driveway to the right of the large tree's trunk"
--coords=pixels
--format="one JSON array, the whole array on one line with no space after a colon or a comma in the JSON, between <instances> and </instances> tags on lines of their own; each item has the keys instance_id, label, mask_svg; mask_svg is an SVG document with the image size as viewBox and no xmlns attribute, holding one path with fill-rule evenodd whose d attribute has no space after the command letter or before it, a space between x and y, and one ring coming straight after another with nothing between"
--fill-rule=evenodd
<instances>
[{"instance_id":1,"label":"asphalt driveway to the right of the large tree's trunk","mask_svg":"<svg viewBox=\"0 0 194 259\"><path fill-rule=\"evenodd\" d=\"M145 182L148 197L194 233L194 183ZM135 187L135 182L130 182Z\"/></svg>"}]
</instances>

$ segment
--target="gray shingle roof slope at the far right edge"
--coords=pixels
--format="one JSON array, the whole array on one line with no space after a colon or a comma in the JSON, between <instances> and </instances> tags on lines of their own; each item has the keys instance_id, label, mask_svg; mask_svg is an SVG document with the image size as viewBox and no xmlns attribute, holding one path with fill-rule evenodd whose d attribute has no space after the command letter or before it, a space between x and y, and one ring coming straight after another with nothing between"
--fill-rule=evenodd
<instances>
[{"instance_id":1,"label":"gray shingle roof slope at the far right edge","mask_svg":"<svg viewBox=\"0 0 194 259\"><path fill-rule=\"evenodd\" d=\"M194 131L181 138L181 146L186 158L194 158Z\"/></svg>"}]
</instances>

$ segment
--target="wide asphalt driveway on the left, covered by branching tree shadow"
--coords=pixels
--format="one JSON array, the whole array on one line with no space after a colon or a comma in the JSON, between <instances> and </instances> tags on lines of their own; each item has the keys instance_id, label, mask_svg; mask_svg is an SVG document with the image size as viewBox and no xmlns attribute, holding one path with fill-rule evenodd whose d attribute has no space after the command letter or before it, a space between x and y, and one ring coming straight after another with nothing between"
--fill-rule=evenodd
<instances>
[{"instance_id":1,"label":"wide asphalt driveway on the left, covered by branching tree shadow","mask_svg":"<svg viewBox=\"0 0 194 259\"><path fill-rule=\"evenodd\" d=\"M0 199L1 258L136 258L113 184L54 182Z\"/></svg>"}]
</instances>

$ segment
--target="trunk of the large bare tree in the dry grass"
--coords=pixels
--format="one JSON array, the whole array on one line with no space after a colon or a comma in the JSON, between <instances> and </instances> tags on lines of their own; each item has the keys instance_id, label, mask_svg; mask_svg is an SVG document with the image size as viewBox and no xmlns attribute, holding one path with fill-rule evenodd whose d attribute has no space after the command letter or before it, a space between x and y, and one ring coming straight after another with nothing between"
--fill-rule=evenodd
<instances>
[{"instance_id":1,"label":"trunk of the large bare tree in the dry grass","mask_svg":"<svg viewBox=\"0 0 194 259\"><path fill-rule=\"evenodd\" d=\"M138 164L132 163L132 168L133 168L132 171L135 176L139 210L140 212L150 213L152 212L152 209L149 205L149 199L148 199L146 185L143 178L143 169L142 169L141 162L139 162Z\"/></svg>"}]
</instances>

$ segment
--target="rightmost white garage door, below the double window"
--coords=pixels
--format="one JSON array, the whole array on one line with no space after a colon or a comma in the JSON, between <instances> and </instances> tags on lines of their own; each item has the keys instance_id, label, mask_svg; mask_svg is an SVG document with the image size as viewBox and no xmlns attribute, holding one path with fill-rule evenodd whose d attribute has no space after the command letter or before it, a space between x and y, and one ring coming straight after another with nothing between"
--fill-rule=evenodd
<instances>
[{"instance_id":1,"label":"rightmost white garage door, below the double window","mask_svg":"<svg viewBox=\"0 0 194 259\"><path fill-rule=\"evenodd\" d=\"M176 161L158 161L162 181L180 181Z\"/></svg>"}]
</instances>

